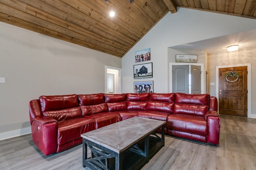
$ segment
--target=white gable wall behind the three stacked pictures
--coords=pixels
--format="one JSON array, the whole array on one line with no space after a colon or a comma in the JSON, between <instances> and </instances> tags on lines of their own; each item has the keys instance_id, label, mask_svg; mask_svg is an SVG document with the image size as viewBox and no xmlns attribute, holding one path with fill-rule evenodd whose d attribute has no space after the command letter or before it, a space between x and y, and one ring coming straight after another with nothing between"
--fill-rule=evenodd
<instances>
[{"instance_id":1,"label":"white gable wall behind the three stacked pictures","mask_svg":"<svg viewBox=\"0 0 256 170\"><path fill-rule=\"evenodd\" d=\"M168 67L170 62L175 62L175 55L168 55L168 47L255 28L256 20L248 18L187 8L178 8L178 12L175 14L168 12L122 57L122 92L133 92L134 81L148 80L154 80L154 92L169 92ZM153 78L134 79L134 52L146 48L150 48L151 52L151 60L148 62L153 63ZM206 63L201 59L198 62Z\"/></svg>"}]
</instances>

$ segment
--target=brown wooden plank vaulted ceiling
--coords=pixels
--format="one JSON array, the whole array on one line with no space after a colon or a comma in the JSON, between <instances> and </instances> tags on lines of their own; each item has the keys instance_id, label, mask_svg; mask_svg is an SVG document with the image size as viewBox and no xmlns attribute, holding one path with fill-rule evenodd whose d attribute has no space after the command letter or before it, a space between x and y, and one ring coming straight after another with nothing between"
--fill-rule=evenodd
<instances>
[{"instance_id":1,"label":"brown wooden plank vaulted ceiling","mask_svg":"<svg viewBox=\"0 0 256 170\"><path fill-rule=\"evenodd\" d=\"M177 7L256 18L256 0L0 0L0 21L123 57Z\"/></svg>"}]
</instances>

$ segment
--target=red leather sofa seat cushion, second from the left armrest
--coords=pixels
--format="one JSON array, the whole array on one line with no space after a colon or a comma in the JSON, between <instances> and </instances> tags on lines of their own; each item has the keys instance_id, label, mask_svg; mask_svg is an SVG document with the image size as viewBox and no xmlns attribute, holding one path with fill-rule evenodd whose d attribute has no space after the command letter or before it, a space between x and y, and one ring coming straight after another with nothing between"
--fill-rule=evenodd
<instances>
[{"instance_id":1,"label":"red leather sofa seat cushion, second from the left armrest","mask_svg":"<svg viewBox=\"0 0 256 170\"><path fill-rule=\"evenodd\" d=\"M122 121L122 117L117 112L96 113L92 115L87 115L85 117L92 118L95 120L96 129L110 125L112 123L116 123L118 121Z\"/></svg>"}]
</instances>

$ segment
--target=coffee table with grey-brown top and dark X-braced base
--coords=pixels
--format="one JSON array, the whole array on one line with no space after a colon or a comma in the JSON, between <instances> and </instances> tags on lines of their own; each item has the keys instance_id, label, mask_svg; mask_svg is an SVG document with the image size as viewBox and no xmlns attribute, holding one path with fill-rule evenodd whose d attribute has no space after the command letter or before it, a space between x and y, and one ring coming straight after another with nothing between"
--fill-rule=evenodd
<instances>
[{"instance_id":1,"label":"coffee table with grey-brown top and dark X-braced base","mask_svg":"<svg viewBox=\"0 0 256 170\"><path fill-rule=\"evenodd\" d=\"M132 117L83 133L83 167L136 170L164 146L166 121ZM156 130L162 128L161 137ZM87 157L87 147L91 156Z\"/></svg>"}]
</instances>

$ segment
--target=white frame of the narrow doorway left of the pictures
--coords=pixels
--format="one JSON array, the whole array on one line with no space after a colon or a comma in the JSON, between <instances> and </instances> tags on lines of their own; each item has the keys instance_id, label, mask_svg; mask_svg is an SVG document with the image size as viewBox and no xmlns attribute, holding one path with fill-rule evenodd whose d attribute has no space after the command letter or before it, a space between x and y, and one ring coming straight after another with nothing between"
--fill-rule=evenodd
<instances>
[{"instance_id":1,"label":"white frame of the narrow doorway left of the pictures","mask_svg":"<svg viewBox=\"0 0 256 170\"><path fill-rule=\"evenodd\" d=\"M118 75L115 73L115 72L108 72L108 69L111 69L111 70L116 70L118 71ZM112 73L112 74L115 74L114 78L115 78L115 84L114 86L118 88L118 92L117 93L121 93L121 70L122 68L118 68L118 67L112 67L112 66L106 66L105 65L105 93L107 93L107 73ZM118 81L116 81L118 80ZM117 91L117 90L116 90Z\"/></svg>"}]
</instances>

